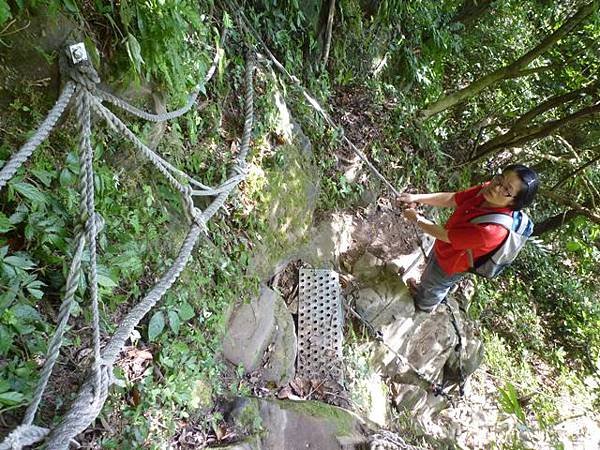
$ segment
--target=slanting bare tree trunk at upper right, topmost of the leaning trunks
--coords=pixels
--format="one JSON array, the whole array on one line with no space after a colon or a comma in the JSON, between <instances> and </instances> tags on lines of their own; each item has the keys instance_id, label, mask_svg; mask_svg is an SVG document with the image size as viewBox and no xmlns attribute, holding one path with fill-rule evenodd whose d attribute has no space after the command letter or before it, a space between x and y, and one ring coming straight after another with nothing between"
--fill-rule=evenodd
<instances>
[{"instance_id":1,"label":"slanting bare tree trunk at upper right, topmost of the leaning trunks","mask_svg":"<svg viewBox=\"0 0 600 450\"><path fill-rule=\"evenodd\" d=\"M457 105L468 98L478 94L483 91L488 86L507 78L514 78L518 75L519 72L526 69L526 67L539 57L541 54L545 53L549 50L554 44L556 44L560 39L565 37L571 31L573 31L583 20L585 20L589 15L591 15L598 8L598 0L594 0L591 3L581 7L577 13L568 19L560 28L558 28L554 33L547 36L542 42L540 42L535 48L527 52L525 55L521 56L516 61L511 64L501 67L500 69L495 70L494 72L487 74L478 80L471 83L466 88L460 89L452 94L446 95L429 105L426 105L425 108L420 112L419 118L421 120L428 119L435 114L438 114L446 109Z\"/></svg>"}]
</instances>

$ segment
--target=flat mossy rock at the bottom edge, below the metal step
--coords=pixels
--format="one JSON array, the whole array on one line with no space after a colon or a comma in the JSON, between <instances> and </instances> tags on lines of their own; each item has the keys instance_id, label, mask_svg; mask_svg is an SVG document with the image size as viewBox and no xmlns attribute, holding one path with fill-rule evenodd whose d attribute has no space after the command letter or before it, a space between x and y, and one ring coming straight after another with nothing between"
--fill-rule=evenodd
<instances>
[{"instance_id":1,"label":"flat mossy rock at the bottom edge, below the metal step","mask_svg":"<svg viewBox=\"0 0 600 450\"><path fill-rule=\"evenodd\" d=\"M365 448L367 428L354 414L316 401L269 401L240 399L230 419L242 432L258 436L233 449L340 450Z\"/></svg>"}]
</instances>

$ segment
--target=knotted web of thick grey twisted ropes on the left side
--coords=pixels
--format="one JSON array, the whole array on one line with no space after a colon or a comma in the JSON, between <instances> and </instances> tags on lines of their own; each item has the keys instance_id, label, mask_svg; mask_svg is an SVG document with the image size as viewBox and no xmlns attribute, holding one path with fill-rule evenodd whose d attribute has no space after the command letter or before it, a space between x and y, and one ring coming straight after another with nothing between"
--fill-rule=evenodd
<instances>
[{"instance_id":1,"label":"knotted web of thick grey twisted ropes on the left side","mask_svg":"<svg viewBox=\"0 0 600 450\"><path fill-rule=\"evenodd\" d=\"M221 52L218 51L213 61L213 65L204 79L204 84L207 83L214 74L220 55ZM134 328L139 324L140 320L161 299L164 293L179 277L191 256L191 252L198 241L198 238L200 235L207 232L206 223L219 208L223 206L229 193L245 178L247 173L245 160L250 145L253 123L252 77L254 63L250 56L248 57L246 66L245 121L240 153L234 162L230 178L216 188L211 188L193 180L187 174L178 170L158 154L151 151L137 139L137 137L114 114L112 114L112 112L102 105L102 100L108 100L116 106L123 107L128 112L143 116L143 118L146 118L147 120L168 120L169 118L184 114L191 108L193 105L193 101L191 100L193 99L195 101L201 85L197 86L196 91L190 95L187 104L183 108L164 115L150 115L124 101L120 101L117 97L112 96L112 94L100 91L97 88L99 78L91 64L75 66L74 64L65 63L64 55L61 55L61 58L61 69L64 69L66 75L68 75L72 81L66 83L55 106L48 114L48 117L40 125L34 136L19 151L17 151L11 160L3 167L0 172L0 189L15 174L20 165L31 156L35 148L49 135L64 112L67 103L73 94L75 94L76 114L80 129L80 164L82 166L80 172L81 226L77 231L77 247L66 281L65 296L58 315L58 325L50 340L46 361L42 368L33 400L27 408L22 425L13 430L5 440L0 443L0 450L21 449L24 446L40 442L45 438L48 448L67 449L72 439L85 430L92 421L96 419L106 401L109 387L113 382L112 366L123 349L126 340L129 338ZM103 226L103 222L100 216L95 213L94 206L93 151L91 147L92 110L97 115L104 118L113 129L124 134L146 157L148 157L157 169L169 180L173 187L182 194L184 203L192 217L191 228L171 268L161 277L150 292L148 292L148 294L129 311L125 319L119 324L117 331L111 337L108 344L102 350L100 349L100 324L98 313L99 295L96 281L97 256L95 240ZM183 179L183 182L178 178ZM183 183L194 184L199 189L194 190L189 184ZM201 211L194 206L192 200L193 195L208 195L214 196L215 198L204 211ZM74 301L75 291L77 289L81 271L81 259L86 244L91 255L88 268L88 285L92 297L94 359L92 367L88 372L85 381L82 383L78 396L71 405L69 411L55 428L48 430L33 425L33 420L53 366L59 355Z\"/></svg>"}]
</instances>

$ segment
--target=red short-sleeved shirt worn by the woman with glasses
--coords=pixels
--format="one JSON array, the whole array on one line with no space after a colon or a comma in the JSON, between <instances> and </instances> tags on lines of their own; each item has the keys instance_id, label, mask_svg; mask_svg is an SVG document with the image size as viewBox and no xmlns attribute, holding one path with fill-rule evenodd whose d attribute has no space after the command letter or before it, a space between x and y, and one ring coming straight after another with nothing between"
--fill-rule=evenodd
<instances>
[{"instance_id":1,"label":"red short-sleeved shirt worn by the woman with glasses","mask_svg":"<svg viewBox=\"0 0 600 450\"><path fill-rule=\"evenodd\" d=\"M450 243L439 239L435 241L434 251L438 264L448 275L466 272L469 269L467 249L473 251L473 259L476 260L498 247L508 234L508 231L501 225L469 222L469 220L484 214L512 214L510 208L481 206L485 199L483 195L479 195L479 192L486 184L474 186L455 194L456 210L444 225L444 228L448 230Z\"/></svg>"}]
</instances>

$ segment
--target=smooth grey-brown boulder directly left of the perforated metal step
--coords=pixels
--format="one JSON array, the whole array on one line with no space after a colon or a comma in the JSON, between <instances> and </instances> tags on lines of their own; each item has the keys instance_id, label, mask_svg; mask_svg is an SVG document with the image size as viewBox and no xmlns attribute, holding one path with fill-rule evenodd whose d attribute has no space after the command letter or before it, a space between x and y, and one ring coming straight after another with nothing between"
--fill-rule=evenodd
<instances>
[{"instance_id":1,"label":"smooth grey-brown boulder directly left of the perforated metal step","mask_svg":"<svg viewBox=\"0 0 600 450\"><path fill-rule=\"evenodd\" d=\"M246 373L287 384L294 376L296 336L291 314L279 294L263 287L250 303L237 307L223 339L223 356Z\"/></svg>"}]
</instances>

